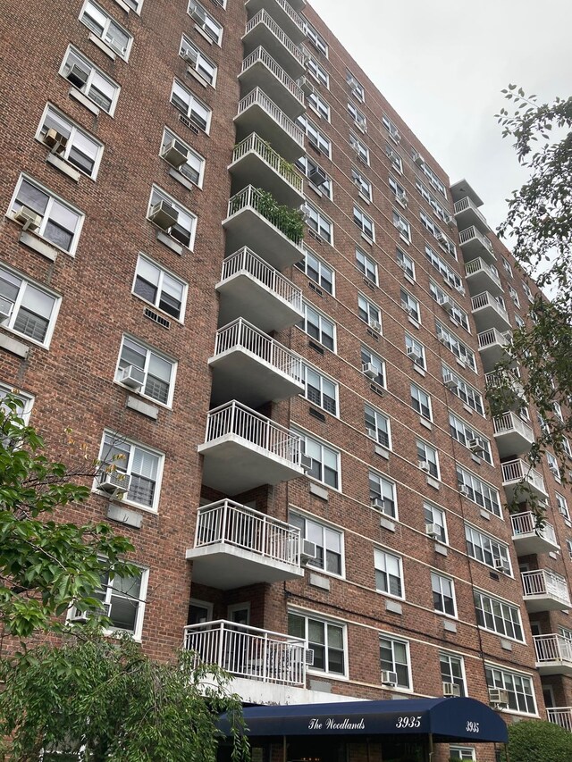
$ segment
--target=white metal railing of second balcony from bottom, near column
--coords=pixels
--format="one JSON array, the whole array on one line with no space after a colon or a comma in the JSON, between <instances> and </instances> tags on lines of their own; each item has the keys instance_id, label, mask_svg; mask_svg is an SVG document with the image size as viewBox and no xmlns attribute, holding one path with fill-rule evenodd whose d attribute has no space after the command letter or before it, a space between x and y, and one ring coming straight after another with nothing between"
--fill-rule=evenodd
<instances>
[{"instance_id":1,"label":"white metal railing of second balcony from bottom, near column","mask_svg":"<svg viewBox=\"0 0 572 762\"><path fill-rule=\"evenodd\" d=\"M198 509L195 548L233 545L282 564L299 566L300 531L234 500L219 500Z\"/></svg>"}]
</instances>

